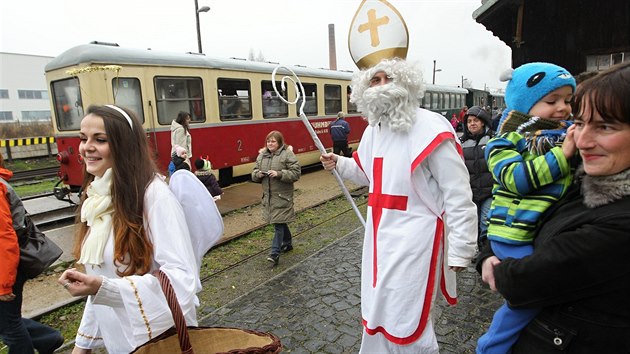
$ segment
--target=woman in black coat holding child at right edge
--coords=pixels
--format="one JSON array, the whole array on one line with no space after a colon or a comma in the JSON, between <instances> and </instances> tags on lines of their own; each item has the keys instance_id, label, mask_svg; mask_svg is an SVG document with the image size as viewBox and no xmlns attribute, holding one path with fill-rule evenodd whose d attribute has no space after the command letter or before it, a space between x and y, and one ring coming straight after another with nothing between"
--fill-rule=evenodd
<instances>
[{"instance_id":1,"label":"woman in black coat holding child at right edge","mask_svg":"<svg viewBox=\"0 0 630 354\"><path fill-rule=\"evenodd\" d=\"M513 308L542 308L512 346L522 353L630 353L630 62L582 82L567 141L582 161L549 210L534 251L477 269Z\"/></svg>"}]
</instances>

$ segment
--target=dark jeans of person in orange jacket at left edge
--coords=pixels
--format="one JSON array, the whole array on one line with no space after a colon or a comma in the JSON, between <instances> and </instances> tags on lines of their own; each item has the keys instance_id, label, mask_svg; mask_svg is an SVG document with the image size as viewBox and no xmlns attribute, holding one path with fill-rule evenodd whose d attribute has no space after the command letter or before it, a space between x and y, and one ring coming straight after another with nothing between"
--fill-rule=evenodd
<instances>
[{"instance_id":1,"label":"dark jeans of person in orange jacket at left edge","mask_svg":"<svg viewBox=\"0 0 630 354\"><path fill-rule=\"evenodd\" d=\"M13 293L13 301L0 301L0 339L9 347L9 354L32 354L37 349L40 354L52 353L63 344L59 331L22 318L22 290L26 277L18 271Z\"/></svg>"}]
</instances>

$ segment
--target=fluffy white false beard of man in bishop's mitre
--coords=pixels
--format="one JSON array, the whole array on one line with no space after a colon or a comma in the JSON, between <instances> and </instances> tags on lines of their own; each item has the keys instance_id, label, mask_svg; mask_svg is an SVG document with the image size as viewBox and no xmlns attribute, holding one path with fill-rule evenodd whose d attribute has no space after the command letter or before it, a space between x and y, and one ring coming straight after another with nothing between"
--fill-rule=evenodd
<instances>
[{"instance_id":1,"label":"fluffy white false beard of man in bishop's mitre","mask_svg":"<svg viewBox=\"0 0 630 354\"><path fill-rule=\"evenodd\" d=\"M416 119L416 109L409 103L409 91L395 83L370 87L362 97L363 113L368 123L387 124L393 132L405 133Z\"/></svg>"}]
</instances>

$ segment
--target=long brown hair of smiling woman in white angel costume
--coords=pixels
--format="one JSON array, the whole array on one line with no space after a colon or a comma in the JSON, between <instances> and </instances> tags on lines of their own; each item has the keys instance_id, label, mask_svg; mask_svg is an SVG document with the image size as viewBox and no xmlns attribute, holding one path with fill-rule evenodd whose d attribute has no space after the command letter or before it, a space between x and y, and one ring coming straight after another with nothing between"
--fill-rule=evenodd
<instances>
[{"instance_id":1,"label":"long brown hair of smiling woman in white angel costume","mask_svg":"<svg viewBox=\"0 0 630 354\"><path fill-rule=\"evenodd\" d=\"M111 152L112 166L112 206L114 209L114 265L119 276L145 274L153 262L153 244L144 229L144 192L157 173L155 161L147 142L146 134L138 119L128 109L131 124L120 112L107 106L92 105L87 114L103 119L107 142ZM94 176L83 167L81 204L87 198L87 187ZM88 231L87 223L77 215L77 234L74 255L80 258L81 246Z\"/></svg>"}]
</instances>

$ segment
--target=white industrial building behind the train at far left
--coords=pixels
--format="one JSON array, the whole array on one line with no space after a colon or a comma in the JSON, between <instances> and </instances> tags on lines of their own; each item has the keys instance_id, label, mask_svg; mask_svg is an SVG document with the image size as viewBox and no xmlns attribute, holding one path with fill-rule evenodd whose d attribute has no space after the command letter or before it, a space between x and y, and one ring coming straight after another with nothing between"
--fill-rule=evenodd
<instances>
[{"instance_id":1,"label":"white industrial building behind the train at far left","mask_svg":"<svg viewBox=\"0 0 630 354\"><path fill-rule=\"evenodd\" d=\"M52 59L0 52L0 124L50 121L44 67Z\"/></svg>"}]
</instances>

